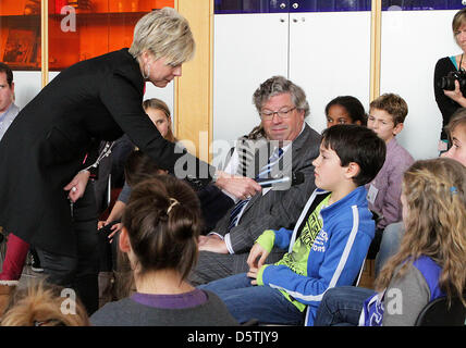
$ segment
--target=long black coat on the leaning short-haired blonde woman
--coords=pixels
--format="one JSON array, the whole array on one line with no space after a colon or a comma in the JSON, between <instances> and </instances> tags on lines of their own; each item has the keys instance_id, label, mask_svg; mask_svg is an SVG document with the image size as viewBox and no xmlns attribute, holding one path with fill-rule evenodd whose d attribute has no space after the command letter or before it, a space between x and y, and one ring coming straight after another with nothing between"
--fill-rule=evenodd
<instances>
[{"instance_id":1,"label":"long black coat on the leaning short-haired blonde woman","mask_svg":"<svg viewBox=\"0 0 466 348\"><path fill-rule=\"evenodd\" d=\"M76 63L53 78L0 141L0 226L44 250L74 256L63 187L83 167L96 139L114 140L125 133L173 173L184 153L175 153L175 145L163 139L146 115L144 86L127 49ZM206 176L206 163L186 158ZM209 181L210 175L199 185Z\"/></svg>"}]
</instances>

